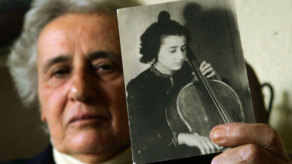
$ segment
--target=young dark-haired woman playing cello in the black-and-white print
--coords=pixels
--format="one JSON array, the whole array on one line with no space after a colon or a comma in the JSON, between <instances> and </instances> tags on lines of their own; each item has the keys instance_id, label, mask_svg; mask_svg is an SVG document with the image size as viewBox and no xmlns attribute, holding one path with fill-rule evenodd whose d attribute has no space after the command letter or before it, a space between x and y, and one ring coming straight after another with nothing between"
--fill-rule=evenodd
<instances>
[{"instance_id":1,"label":"young dark-haired woman playing cello in the black-and-white print","mask_svg":"<svg viewBox=\"0 0 292 164\"><path fill-rule=\"evenodd\" d=\"M172 132L165 116L165 108L174 95L182 87L197 81L186 61L189 39L187 29L171 20L166 11L160 12L158 22L141 35L140 62L151 66L127 84L132 153L138 161L217 151L216 145L207 137ZM205 61L200 64L200 71L209 79L221 80ZM189 148L192 150L187 152Z\"/></svg>"}]
</instances>

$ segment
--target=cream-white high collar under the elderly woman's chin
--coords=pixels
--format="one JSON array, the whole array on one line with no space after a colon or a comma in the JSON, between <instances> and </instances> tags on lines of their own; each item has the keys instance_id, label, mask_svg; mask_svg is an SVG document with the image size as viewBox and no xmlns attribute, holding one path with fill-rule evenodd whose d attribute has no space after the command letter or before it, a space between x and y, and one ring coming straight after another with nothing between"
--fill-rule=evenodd
<instances>
[{"instance_id":1,"label":"cream-white high collar under the elderly woman's chin","mask_svg":"<svg viewBox=\"0 0 292 164\"><path fill-rule=\"evenodd\" d=\"M56 164L88 164L88 163L79 161L78 159L70 155L59 152L57 149L54 148L54 146L53 146L53 156L54 156L54 161L56 162ZM131 147L125 149L120 154L100 164L130 164L130 163L132 163Z\"/></svg>"}]
</instances>

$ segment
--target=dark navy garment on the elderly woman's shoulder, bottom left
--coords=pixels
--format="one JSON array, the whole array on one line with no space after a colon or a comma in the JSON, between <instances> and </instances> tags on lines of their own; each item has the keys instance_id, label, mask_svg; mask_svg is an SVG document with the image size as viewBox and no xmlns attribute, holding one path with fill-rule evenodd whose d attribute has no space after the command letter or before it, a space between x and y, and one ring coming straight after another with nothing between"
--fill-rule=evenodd
<instances>
[{"instance_id":1,"label":"dark navy garment on the elderly woman's shoulder, bottom left","mask_svg":"<svg viewBox=\"0 0 292 164\"><path fill-rule=\"evenodd\" d=\"M17 159L10 162L0 162L1 164L55 164L53 157L53 148L49 144L47 148L32 159Z\"/></svg>"}]
</instances>

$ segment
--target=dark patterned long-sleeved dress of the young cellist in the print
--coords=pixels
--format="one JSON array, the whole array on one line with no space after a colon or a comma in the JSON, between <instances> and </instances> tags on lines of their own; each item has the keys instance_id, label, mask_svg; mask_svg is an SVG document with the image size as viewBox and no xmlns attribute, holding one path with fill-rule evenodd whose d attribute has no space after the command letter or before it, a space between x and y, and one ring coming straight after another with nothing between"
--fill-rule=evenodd
<instances>
[{"instance_id":1,"label":"dark patterned long-sleeved dress of the young cellist in the print","mask_svg":"<svg viewBox=\"0 0 292 164\"><path fill-rule=\"evenodd\" d=\"M173 132L165 116L165 108L194 75L188 62L172 76L162 74L153 67L140 73L127 84L131 144L134 162L186 156L186 146L172 143ZM199 154L195 148L191 152Z\"/></svg>"}]
</instances>

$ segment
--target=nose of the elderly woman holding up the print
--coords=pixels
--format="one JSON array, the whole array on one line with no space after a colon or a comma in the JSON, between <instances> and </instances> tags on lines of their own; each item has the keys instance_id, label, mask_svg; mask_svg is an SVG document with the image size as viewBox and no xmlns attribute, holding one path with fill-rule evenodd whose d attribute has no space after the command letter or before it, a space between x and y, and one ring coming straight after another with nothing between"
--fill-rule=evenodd
<instances>
[{"instance_id":1,"label":"nose of the elderly woman holding up the print","mask_svg":"<svg viewBox=\"0 0 292 164\"><path fill-rule=\"evenodd\" d=\"M92 85L90 85L90 75L86 71L79 71L73 76L68 98L71 101L80 101L88 103L96 97L96 93Z\"/></svg>"}]
</instances>

